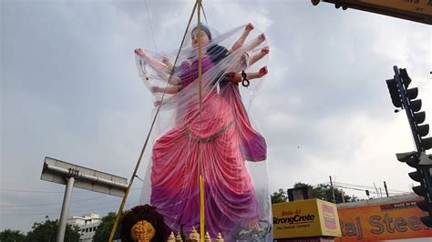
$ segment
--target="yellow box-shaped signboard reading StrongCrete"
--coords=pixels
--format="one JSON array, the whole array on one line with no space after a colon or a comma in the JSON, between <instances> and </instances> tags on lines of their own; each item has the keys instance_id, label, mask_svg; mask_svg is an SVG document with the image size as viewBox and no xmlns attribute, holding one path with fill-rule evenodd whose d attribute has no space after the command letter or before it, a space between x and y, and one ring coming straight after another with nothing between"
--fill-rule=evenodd
<instances>
[{"instance_id":1,"label":"yellow box-shaped signboard reading StrongCrete","mask_svg":"<svg viewBox=\"0 0 432 242\"><path fill-rule=\"evenodd\" d=\"M273 204L273 237L340 237L341 228L334 204L308 199Z\"/></svg>"}]
</instances>

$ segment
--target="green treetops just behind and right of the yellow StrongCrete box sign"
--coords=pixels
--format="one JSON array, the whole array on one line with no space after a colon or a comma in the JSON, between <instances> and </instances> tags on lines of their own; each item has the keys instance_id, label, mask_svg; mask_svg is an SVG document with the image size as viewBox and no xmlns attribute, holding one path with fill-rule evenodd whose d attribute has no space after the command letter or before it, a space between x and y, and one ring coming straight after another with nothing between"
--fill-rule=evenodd
<instances>
[{"instance_id":1,"label":"green treetops just behind and right of the yellow StrongCrete box sign","mask_svg":"<svg viewBox=\"0 0 432 242\"><path fill-rule=\"evenodd\" d=\"M343 203L345 199L345 203L358 201L358 198L355 196L345 195L344 190L340 188L332 188L329 184L318 184L316 187L313 187L309 184L297 182L294 184L294 188L299 187L312 187L313 188L313 196L328 202L334 202L334 198L336 200L336 204ZM334 191L333 191L334 190ZM344 199L342 198L344 196Z\"/></svg>"}]
</instances>

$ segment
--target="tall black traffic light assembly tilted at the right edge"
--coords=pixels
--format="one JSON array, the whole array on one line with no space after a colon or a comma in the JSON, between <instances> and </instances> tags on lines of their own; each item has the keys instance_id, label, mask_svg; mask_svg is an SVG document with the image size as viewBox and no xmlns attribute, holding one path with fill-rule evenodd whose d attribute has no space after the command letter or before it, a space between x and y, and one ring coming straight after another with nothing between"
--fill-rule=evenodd
<instances>
[{"instance_id":1,"label":"tall black traffic light assembly tilted at the right edge","mask_svg":"<svg viewBox=\"0 0 432 242\"><path fill-rule=\"evenodd\" d=\"M426 216L420 219L424 225L432 227L432 156L426 154L426 151L432 148L432 137L425 138L429 133L429 125L422 125L425 122L426 113L421 111L421 99L416 99L418 88L408 88L412 80L406 69L398 69L397 66L394 66L394 71L394 78L386 80L388 91L393 105L405 109L416 144L415 151L396 154L396 158L416 168L416 171L410 172L408 176L420 183L419 186L413 187L414 193L424 197L423 201L417 202L417 207L426 212ZM395 112L398 111L396 109Z\"/></svg>"}]
</instances>

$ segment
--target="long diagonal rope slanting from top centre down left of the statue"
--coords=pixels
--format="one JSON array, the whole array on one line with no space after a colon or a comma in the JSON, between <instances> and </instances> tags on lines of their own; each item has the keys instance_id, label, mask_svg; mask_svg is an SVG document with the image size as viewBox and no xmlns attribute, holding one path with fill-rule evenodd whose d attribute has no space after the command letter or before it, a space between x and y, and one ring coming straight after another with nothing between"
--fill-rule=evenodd
<instances>
[{"instance_id":1,"label":"long diagonal rope slanting from top centre down left of the statue","mask_svg":"<svg viewBox=\"0 0 432 242\"><path fill-rule=\"evenodd\" d=\"M189 30L189 27L190 27L190 22L192 21L192 17L193 17L193 15L195 14L195 10L196 10L196 9L197 9L197 3L195 3L195 5L193 5L193 10L192 10L192 13L190 14L190 19L189 19L189 22L188 22L188 26L186 27L186 30L185 30L184 35L183 35L183 39L181 40L181 44L180 44L180 48L179 48L179 52L177 53L176 60L174 61L174 66L176 66L177 61L178 61L178 59L179 59L179 55L180 55L181 48L182 48L182 46L183 46L183 44L184 44L184 40L185 40L185 38L186 38L186 35L188 34L188 30ZM172 68L172 70L171 70L170 78L171 78L171 76L172 76L173 74L174 74L174 68ZM164 92L163 92L162 97L161 97L161 99L160 99L160 102L163 101L163 98L164 98L165 93L166 93L166 91L167 91L167 87L168 87L168 82L167 82L167 86L165 86L165 89L164 89ZM139 164L141 163L142 156L144 155L144 151L146 150L147 144L149 143L149 137L150 137L151 131L153 130L153 126L154 126L155 123L156 123L156 118L157 118L158 115L159 115L160 106L161 106L161 105L158 106L158 109L157 109L157 111L156 111L156 114L155 114L155 116L153 117L153 121L151 122L151 126L150 126L150 129L149 129L149 133L147 134L147 137L146 137L146 141L145 141L145 143L144 143L144 146L142 146L141 153L139 154L139 158L138 158L138 161L137 161L137 165L135 166L135 170L134 170L132 176L130 177L129 186L128 186L128 188L126 189L125 196L123 197L123 200L121 201L121 205L120 205L120 207L118 207L118 213L117 213L116 221L114 222L114 226L113 226L112 229L111 229L111 234L109 235L109 240L108 240L109 242L112 242L112 239L114 238L114 235L116 234L116 230L117 230L117 227L118 227L118 220L119 220L119 217L120 217L121 213L123 213L123 208L125 207L126 200L127 200L127 198L128 198L128 195L129 195L130 187L132 187L132 184L133 184L134 178L135 178L135 176L137 175L137 172L138 172Z\"/></svg>"}]
</instances>

